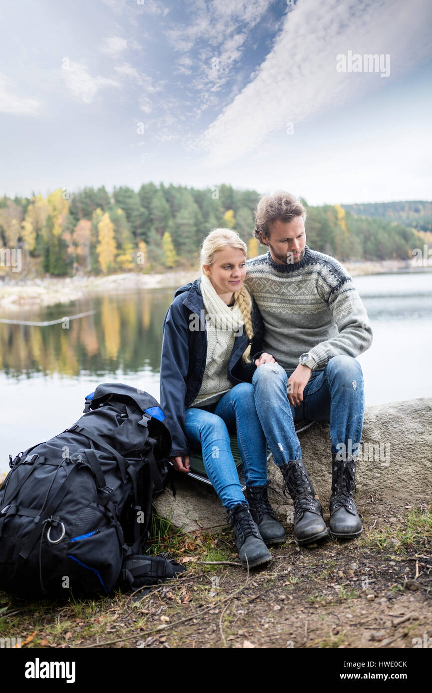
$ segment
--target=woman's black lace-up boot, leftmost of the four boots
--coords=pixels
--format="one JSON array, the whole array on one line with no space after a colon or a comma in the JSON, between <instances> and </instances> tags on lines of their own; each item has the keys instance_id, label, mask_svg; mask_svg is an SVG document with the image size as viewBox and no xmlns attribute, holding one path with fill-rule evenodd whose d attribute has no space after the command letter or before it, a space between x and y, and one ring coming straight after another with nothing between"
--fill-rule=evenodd
<instances>
[{"instance_id":1,"label":"woman's black lace-up boot, leftmost of the four boots","mask_svg":"<svg viewBox=\"0 0 432 693\"><path fill-rule=\"evenodd\" d=\"M272 555L268 551L259 529L255 525L247 503L239 503L227 510L227 523L232 527L236 540L241 565L243 568L255 568L256 565L269 563Z\"/></svg>"}]
</instances>

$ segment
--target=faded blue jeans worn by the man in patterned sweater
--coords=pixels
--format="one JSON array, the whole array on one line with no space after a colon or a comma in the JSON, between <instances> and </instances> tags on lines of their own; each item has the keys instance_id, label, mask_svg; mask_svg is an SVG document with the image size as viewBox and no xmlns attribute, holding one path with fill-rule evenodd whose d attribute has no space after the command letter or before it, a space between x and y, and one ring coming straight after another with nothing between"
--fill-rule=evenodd
<instances>
[{"instance_id":1,"label":"faded blue jeans worn by the man in patterned sweater","mask_svg":"<svg viewBox=\"0 0 432 693\"><path fill-rule=\"evenodd\" d=\"M330 421L331 452L340 444L360 444L365 408L361 366L351 356L334 356L325 369L313 371L303 391L303 401L293 407L286 387L288 375L279 364L266 363L252 378L255 403L268 447L277 466L301 459L302 448L294 421ZM357 448L354 448L356 450ZM343 448L342 448L343 450Z\"/></svg>"}]
</instances>

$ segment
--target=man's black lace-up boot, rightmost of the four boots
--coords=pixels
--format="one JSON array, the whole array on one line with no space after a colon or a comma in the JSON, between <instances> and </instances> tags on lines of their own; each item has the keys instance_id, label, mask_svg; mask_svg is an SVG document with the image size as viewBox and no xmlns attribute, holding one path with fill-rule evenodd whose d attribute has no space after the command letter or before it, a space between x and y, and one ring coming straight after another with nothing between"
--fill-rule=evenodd
<instances>
[{"instance_id":1,"label":"man's black lace-up boot, rightmost of the four boots","mask_svg":"<svg viewBox=\"0 0 432 693\"><path fill-rule=\"evenodd\" d=\"M332 453L331 496L329 500L330 533L343 539L352 539L363 532L353 495L356 493L356 460L352 457L336 459Z\"/></svg>"}]
</instances>

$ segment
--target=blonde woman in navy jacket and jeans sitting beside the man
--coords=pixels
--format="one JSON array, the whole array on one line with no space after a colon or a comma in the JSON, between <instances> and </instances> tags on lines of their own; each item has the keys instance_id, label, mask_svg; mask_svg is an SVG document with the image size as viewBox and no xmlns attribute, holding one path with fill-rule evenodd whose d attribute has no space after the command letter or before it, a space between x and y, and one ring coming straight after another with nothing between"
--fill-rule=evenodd
<instances>
[{"instance_id":1,"label":"blonde woman in navy jacket and jeans sitting beside the man","mask_svg":"<svg viewBox=\"0 0 432 693\"><path fill-rule=\"evenodd\" d=\"M227 510L241 563L268 563L266 544L285 532L267 498L266 439L255 409L252 375L262 353L262 318L243 286L246 244L214 229L201 250L200 279L175 292L164 319L160 401L169 423L171 462L189 472L189 450L202 450L205 470ZM259 352L259 353L256 353ZM247 482L245 500L230 447L236 430Z\"/></svg>"}]
</instances>

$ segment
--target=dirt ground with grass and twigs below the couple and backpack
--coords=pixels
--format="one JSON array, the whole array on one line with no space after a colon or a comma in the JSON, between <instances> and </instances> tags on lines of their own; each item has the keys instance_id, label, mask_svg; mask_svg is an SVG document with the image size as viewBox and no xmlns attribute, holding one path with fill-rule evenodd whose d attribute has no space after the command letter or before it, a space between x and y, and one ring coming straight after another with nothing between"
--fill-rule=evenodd
<instances>
[{"instance_id":1,"label":"dirt ground with grass and twigs below the couple and backpack","mask_svg":"<svg viewBox=\"0 0 432 693\"><path fill-rule=\"evenodd\" d=\"M359 538L298 547L288 525L273 563L249 574L229 528L159 536L187 564L182 577L87 602L0 593L1 635L54 648L432 647L430 508L371 497L358 509Z\"/></svg>"}]
</instances>

